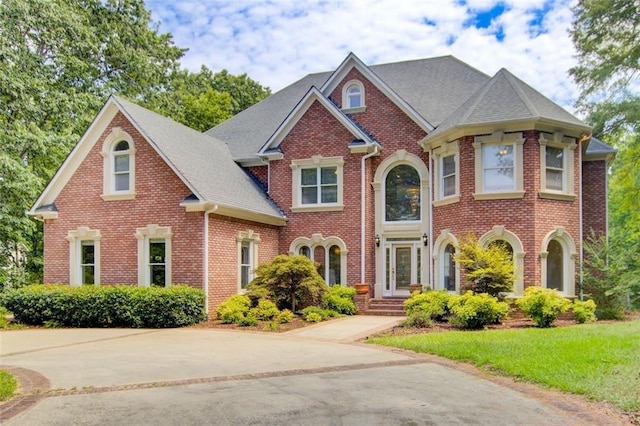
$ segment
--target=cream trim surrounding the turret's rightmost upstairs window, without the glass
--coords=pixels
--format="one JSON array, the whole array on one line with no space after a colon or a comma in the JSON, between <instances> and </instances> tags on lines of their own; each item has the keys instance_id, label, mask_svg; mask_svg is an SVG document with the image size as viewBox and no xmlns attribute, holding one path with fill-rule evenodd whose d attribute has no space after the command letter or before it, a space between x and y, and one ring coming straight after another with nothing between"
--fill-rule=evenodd
<instances>
[{"instance_id":1,"label":"cream trim surrounding the turret's rightmost upstairs window, without the glass","mask_svg":"<svg viewBox=\"0 0 640 426\"><path fill-rule=\"evenodd\" d=\"M552 139L547 139L545 133L540 133L538 140L540 144L540 198L548 198L553 200L573 201L576 196L574 193L574 151L577 144L575 139L566 138L562 133L554 133ZM562 148L563 150L563 182L562 191L547 188L547 147Z\"/></svg>"}]
</instances>

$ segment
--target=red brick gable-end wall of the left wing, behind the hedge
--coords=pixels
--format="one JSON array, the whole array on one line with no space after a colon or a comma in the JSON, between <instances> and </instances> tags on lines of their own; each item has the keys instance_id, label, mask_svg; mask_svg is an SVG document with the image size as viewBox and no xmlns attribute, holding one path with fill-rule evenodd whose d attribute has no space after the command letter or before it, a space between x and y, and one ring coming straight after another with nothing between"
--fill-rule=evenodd
<instances>
[{"instance_id":1,"label":"red brick gable-end wall of the left wing, behind the hedge","mask_svg":"<svg viewBox=\"0 0 640 426\"><path fill-rule=\"evenodd\" d=\"M134 200L103 201L104 138L122 127L134 139L136 176ZM101 282L138 282L136 228L149 224L170 226L172 282L202 286L203 215L185 213L180 201L191 191L171 171L135 127L120 113L96 142L78 170L55 200L58 219L45 223L44 281L69 282L67 233L80 226L100 230Z\"/></svg>"}]
</instances>

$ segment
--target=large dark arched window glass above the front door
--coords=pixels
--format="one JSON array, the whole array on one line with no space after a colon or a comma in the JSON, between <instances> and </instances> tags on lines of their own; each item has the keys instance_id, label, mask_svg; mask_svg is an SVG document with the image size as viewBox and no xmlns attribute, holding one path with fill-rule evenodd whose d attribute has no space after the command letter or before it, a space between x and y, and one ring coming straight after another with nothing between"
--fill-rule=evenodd
<instances>
[{"instance_id":1,"label":"large dark arched window glass above the front door","mask_svg":"<svg viewBox=\"0 0 640 426\"><path fill-rule=\"evenodd\" d=\"M420 220L420 174L408 164L394 167L385 179L385 220Z\"/></svg>"}]
</instances>

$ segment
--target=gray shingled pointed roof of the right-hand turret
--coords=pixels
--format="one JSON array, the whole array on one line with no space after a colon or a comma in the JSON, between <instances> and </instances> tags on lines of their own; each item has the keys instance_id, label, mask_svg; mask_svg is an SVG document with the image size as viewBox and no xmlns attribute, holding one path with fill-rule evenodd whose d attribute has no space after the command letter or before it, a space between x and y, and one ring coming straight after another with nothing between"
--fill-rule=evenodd
<instances>
[{"instance_id":1,"label":"gray shingled pointed roof of the right-hand turret","mask_svg":"<svg viewBox=\"0 0 640 426\"><path fill-rule=\"evenodd\" d=\"M548 119L588 127L503 68L449 115L427 139L454 127L529 119Z\"/></svg>"}]
</instances>

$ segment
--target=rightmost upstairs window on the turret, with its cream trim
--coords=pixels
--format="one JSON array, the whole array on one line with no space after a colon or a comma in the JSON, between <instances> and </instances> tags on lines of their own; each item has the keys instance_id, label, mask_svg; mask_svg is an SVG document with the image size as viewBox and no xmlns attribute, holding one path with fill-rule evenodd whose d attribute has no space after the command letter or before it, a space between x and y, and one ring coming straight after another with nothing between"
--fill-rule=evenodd
<instances>
[{"instance_id":1,"label":"rightmost upstairs window on the turret, with its cream trim","mask_svg":"<svg viewBox=\"0 0 640 426\"><path fill-rule=\"evenodd\" d=\"M547 137L551 136L551 139ZM572 201L573 152L576 143L557 133L540 134L540 197Z\"/></svg>"}]
</instances>

